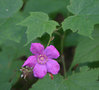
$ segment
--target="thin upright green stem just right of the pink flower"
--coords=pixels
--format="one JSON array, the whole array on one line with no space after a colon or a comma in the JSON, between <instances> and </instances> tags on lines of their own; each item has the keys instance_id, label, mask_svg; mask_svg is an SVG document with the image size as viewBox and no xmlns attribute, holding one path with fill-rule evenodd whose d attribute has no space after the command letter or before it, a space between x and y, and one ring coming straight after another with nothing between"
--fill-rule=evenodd
<instances>
[{"instance_id":1,"label":"thin upright green stem just right of the pink flower","mask_svg":"<svg viewBox=\"0 0 99 90\"><path fill-rule=\"evenodd\" d=\"M63 69L64 69L64 78L66 78L66 66L65 66L65 59L63 54L64 35L65 33L62 35L62 39L61 39L61 59L62 59Z\"/></svg>"}]
</instances>

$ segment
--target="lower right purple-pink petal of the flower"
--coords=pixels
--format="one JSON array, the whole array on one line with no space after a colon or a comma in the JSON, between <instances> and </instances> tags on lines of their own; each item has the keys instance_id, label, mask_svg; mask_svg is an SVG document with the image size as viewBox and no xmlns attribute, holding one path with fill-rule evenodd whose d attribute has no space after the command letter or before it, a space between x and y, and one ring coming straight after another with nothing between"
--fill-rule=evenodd
<instances>
[{"instance_id":1,"label":"lower right purple-pink petal of the flower","mask_svg":"<svg viewBox=\"0 0 99 90\"><path fill-rule=\"evenodd\" d=\"M52 74L58 74L60 65L57 61L49 59L47 62L47 71Z\"/></svg>"}]
</instances>

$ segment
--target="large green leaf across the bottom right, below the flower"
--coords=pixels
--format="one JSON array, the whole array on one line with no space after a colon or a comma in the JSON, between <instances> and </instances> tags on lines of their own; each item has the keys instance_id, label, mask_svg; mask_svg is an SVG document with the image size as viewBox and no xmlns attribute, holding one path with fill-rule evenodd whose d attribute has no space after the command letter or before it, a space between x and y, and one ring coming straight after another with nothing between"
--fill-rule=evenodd
<instances>
[{"instance_id":1,"label":"large green leaf across the bottom right, below the flower","mask_svg":"<svg viewBox=\"0 0 99 90\"><path fill-rule=\"evenodd\" d=\"M40 79L30 90L98 90L99 69L89 70L88 67L81 68L79 73L73 73L67 79L55 75L51 80L50 76ZM85 83L86 82L86 83Z\"/></svg>"}]
</instances>

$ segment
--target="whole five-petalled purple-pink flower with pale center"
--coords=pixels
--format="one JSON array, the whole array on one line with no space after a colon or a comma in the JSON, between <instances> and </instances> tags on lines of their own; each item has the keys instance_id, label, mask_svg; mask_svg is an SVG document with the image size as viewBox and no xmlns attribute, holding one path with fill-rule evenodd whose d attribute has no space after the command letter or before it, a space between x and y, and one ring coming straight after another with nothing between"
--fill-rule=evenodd
<instances>
[{"instance_id":1,"label":"whole five-petalled purple-pink flower with pale center","mask_svg":"<svg viewBox=\"0 0 99 90\"><path fill-rule=\"evenodd\" d=\"M57 59L60 54L53 45L48 46L44 50L44 46L42 44L32 43L30 51L34 55L29 56L22 67L33 67L33 74L38 78L43 78L47 72L51 74L58 74L60 65L53 59Z\"/></svg>"}]
</instances>

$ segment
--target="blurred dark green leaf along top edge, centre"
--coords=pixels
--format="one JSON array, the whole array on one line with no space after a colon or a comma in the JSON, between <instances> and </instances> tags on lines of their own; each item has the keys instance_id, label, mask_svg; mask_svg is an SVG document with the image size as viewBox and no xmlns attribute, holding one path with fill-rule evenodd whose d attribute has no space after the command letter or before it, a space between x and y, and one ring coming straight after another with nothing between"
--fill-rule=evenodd
<instances>
[{"instance_id":1,"label":"blurred dark green leaf along top edge, centre","mask_svg":"<svg viewBox=\"0 0 99 90\"><path fill-rule=\"evenodd\" d=\"M45 13L66 12L66 6L69 0L29 0L24 7L24 12L39 11Z\"/></svg>"}]
</instances>

